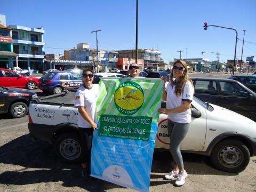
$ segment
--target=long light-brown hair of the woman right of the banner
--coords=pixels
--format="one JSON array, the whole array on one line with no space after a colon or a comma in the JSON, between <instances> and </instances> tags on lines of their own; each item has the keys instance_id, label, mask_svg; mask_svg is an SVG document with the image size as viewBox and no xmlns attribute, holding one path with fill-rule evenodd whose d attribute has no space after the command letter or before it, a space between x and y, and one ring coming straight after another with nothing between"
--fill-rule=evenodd
<instances>
[{"instance_id":1,"label":"long light-brown hair of the woman right of the banner","mask_svg":"<svg viewBox=\"0 0 256 192\"><path fill-rule=\"evenodd\" d=\"M173 81L173 78L175 78L174 75L173 75L173 71L172 71L171 76L170 76L171 85L172 86L176 85L174 93L176 94L177 97L179 97L181 95L181 92L183 91L182 88L183 88L183 85L185 83L187 83L189 81L192 84L192 86L194 86L194 85L193 85L193 82L191 81L191 79L188 78L187 63L185 61L179 59L179 60L174 62L173 66L175 66L176 63L180 63L185 68L183 70L183 75L182 75L182 77L180 77L178 82Z\"/></svg>"}]
</instances>

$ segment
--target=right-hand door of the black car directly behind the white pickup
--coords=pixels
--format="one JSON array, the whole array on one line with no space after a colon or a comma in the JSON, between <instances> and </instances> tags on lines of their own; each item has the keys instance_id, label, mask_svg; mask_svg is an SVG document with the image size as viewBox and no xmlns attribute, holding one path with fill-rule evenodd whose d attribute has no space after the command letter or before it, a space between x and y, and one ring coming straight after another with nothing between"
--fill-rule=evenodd
<instances>
[{"instance_id":1,"label":"right-hand door of the black car directly behind the white pickup","mask_svg":"<svg viewBox=\"0 0 256 192\"><path fill-rule=\"evenodd\" d=\"M251 97L241 85L235 82L219 81L221 107L235 111L250 119L255 118L256 98Z\"/></svg>"}]
</instances>

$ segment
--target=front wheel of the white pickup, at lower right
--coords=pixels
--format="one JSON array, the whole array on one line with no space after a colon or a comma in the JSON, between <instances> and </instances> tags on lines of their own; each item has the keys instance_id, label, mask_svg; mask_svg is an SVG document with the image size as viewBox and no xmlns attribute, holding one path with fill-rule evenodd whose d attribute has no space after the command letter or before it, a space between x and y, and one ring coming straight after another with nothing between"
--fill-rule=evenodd
<instances>
[{"instance_id":1,"label":"front wheel of the white pickup, at lower right","mask_svg":"<svg viewBox=\"0 0 256 192\"><path fill-rule=\"evenodd\" d=\"M211 153L212 163L221 171L239 173L250 161L250 152L243 142L235 139L220 141Z\"/></svg>"}]
</instances>

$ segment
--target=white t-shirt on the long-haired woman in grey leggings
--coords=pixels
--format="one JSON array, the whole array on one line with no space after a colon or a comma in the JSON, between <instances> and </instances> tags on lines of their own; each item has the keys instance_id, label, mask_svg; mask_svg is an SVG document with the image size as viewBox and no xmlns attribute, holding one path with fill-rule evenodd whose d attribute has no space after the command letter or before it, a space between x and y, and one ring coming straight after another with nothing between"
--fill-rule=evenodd
<instances>
[{"instance_id":1,"label":"white t-shirt on the long-haired woman in grey leggings","mask_svg":"<svg viewBox=\"0 0 256 192\"><path fill-rule=\"evenodd\" d=\"M168 83L165 89L167 93L166 107L167 109L173 109L181 106L184 101L193 101L194 87L187 81L183 85L183 89L179 97L175 94L175 85L172 87L171 82ZM176 123L190 123L191 122L191 109L181 111L179 113L170 113L168 118Z\"/></svg>"}]
</instances>

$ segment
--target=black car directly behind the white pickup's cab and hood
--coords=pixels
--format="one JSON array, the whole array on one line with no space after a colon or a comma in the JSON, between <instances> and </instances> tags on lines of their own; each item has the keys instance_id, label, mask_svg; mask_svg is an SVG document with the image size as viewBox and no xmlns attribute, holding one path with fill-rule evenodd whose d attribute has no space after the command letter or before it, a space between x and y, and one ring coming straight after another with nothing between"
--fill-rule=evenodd
<instances>
[{"instance_id":1,"label":"black car directly behind the white pickup's cab and hood","mask_svg":"<svg viewBox=\"0 0 256 192\"><path fill-rule=\"evenodd\" d=\"M242 83L225 78L191 79L195 87L195 97L256 121L256 93Z\"/></svg>"}]
</instances>

